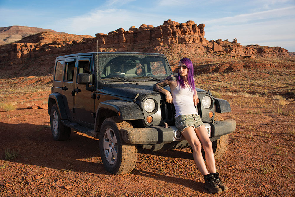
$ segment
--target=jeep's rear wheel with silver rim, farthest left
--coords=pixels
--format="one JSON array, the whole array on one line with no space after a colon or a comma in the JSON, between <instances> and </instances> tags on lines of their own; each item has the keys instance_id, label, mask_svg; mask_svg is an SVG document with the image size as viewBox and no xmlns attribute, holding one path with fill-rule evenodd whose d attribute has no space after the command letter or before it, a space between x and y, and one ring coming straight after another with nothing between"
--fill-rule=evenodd
<instances>
[{"instance_id":1,"label":"jeep's rear wheel with silver rim, farthest left","mask_svg":"<svg viewBox=\"0 0 295 197\"><path fill-rule=\"evenodd\" d=\"M60 114L57 109L57 105L52 105L50 113L50 127L53 139L55 140L67 140L71 134L71 128L61 123Z\"/></svg>"}]
</instances>

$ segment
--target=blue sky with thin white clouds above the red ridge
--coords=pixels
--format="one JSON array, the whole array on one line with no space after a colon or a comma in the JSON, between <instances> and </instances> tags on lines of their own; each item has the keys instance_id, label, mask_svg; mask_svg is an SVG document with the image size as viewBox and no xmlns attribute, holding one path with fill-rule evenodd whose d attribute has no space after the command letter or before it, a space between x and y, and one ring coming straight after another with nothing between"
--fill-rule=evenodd
<instances>
[{"instance_id":1,"label":"blue sky with thin white clouds above the red ridge","mask_svg":"<svg viewBox=\"0 0 295 197\"><path fill-rule=\"evenodd\" d=\"M207 40L281 46L295 52L295 0L0 0L0 27L27 25L95 36L164 20L204 23Z\"/></svg>"}]
</instances>

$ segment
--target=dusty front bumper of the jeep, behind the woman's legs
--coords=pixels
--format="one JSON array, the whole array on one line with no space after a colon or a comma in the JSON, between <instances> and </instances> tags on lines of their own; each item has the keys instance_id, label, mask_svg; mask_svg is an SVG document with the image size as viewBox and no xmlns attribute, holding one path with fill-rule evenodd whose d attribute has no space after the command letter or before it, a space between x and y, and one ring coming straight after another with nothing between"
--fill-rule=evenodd
<instances>
[{"instance_id":1,"label":"dusty front bumper of the jeep, behind the woman's legs","mask_svg":"<svg viewBox=\"0 0 295 197\"><path fill-rule=\"evenodd\" d=\"M236 121L229 119L207 123L211 126L211 141L218 140L221 136L232 133L236 129ZM173 129L174 128L174 129ZM122 139L128 144L167 144L173 141L185 140L183 137L176 138L175 126L150 126L147 128L121 129Z\"/></svg>"}]
</instances>

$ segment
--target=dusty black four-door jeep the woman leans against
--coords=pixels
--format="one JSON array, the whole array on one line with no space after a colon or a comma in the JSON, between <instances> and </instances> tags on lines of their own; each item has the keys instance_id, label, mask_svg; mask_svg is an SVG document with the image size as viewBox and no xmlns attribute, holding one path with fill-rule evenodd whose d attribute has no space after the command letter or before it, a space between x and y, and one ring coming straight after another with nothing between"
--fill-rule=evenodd
<instances>
[{"instance_id":1,"label":"dusty black four-door jeep the woman leans against","mask_svg":"<svg viewBox=\"0 0 295 197\"><path fill-rule=\"evenodd\" d=\"M166 57L155 53L100 52L57 57L48 113L53 138L66 140L71 129L99 138L108 172L131 172L137 147L171 150L190 147L174 126L174 106L153 85L173 74ZM169 90L169 86L165 89ZM230 112L226 100L196 88L196 109L207 128L215 158L226 151L235 120L214 121Z\"/></svg>"}]
</instances>

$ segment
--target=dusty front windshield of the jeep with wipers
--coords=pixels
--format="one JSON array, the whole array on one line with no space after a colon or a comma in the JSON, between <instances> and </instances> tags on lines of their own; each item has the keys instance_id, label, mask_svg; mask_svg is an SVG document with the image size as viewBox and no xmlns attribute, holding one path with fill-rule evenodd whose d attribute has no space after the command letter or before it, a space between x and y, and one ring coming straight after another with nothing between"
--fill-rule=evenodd
<instances>
[{"instance_id":1,"label":"dusty front windshield of the jeep with wipers","mask_svg":"<svg viewBox=\"0 0 295 197\"><path fill-rule=\"evenodd\" d=\"M170 66L163 56L139 54L96 55L98 78L164 78L171 75Z\"/></svg>"}]
</instances>

